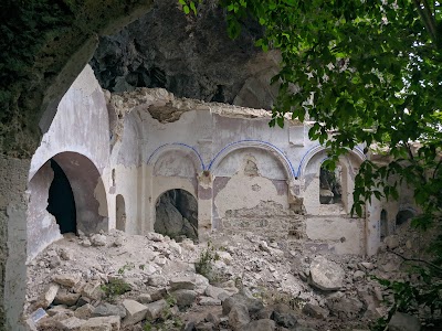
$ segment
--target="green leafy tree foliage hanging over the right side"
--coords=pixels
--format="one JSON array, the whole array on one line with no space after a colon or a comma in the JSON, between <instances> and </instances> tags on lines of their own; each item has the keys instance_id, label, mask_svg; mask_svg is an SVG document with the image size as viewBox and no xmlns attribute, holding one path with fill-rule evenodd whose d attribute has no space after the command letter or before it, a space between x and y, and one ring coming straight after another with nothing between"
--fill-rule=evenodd
<instances>
[{"instance_id":1,"label":"green leafy tree foliage hanging over the right side","mask_svg":"<svg viewBox=\"0 0 442 331\"><path fill-rule=\"evenodd\" d=\"M352 213L371 199L397 199L412 188L421 215L413 225L442 224L442 11L421 0L221 0L236 38L254 18L265 28L256 46L281 51L280 94L271 126L309 119L308 136L332 161L356 145L386 150L356 177ZM432 243L442 263L442 235ZM386 282L391 311L441 306L440 270L421 267L424 281ZM408 306L410 305L410 306Z\"/></svg>"}]
</instances>

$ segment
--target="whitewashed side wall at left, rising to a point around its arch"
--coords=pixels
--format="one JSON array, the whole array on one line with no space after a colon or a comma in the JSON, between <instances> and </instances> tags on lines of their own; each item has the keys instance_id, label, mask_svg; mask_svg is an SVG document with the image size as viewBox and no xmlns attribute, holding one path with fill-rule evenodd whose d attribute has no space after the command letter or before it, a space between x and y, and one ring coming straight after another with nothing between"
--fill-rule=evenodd
<instances>
[{"instance_id":1,"label":"whitewashed side wall at left, rising to a point around its arch","mask_svg":"<svg viewBox=\"0 0 442 331\"><path fill-rule=\"evenodd\" d=\"M57 113L36 149L29 172L28 257L60 238L55 220L45 211L53 158L66 173L77 207L77 226L90 233L108 228L107 190L109 125L106 100L87 65L59 104ZM45 191L45 192L42 192Z\"/></svg>"}]
</instances>

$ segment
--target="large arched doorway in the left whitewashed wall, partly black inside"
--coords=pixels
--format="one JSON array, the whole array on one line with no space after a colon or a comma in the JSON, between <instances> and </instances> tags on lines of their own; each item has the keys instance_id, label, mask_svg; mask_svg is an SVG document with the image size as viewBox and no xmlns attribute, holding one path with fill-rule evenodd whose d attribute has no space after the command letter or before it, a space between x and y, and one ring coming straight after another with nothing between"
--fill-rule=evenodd
<instances>
[{"instance_id":1,"label":"large arched doorway in the left whitewashed wall, partly black inside","mask_svg":"<svg viewBox=\"0 0 442 331\"><path fill-rule=\"evenodd\" d=\"M63 233L108 229L107 200L95 164L76 152L53 156L29 182L28 258Z\"/></svg>"}]
</instances>

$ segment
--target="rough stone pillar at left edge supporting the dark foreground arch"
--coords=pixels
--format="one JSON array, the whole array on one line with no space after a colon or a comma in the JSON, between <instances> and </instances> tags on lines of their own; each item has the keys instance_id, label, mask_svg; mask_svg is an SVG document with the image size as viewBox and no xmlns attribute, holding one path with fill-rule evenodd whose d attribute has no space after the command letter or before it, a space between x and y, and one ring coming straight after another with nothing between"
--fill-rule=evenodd
<instances>
[{"instance_id":1,"label":"rough stone pillar at left edge supporting the dark foreground arch","mask_svg":"<svg viewBox=\"0 0 442 331\"><path fill-rule=\"evenodd\" d=\"M25 330L27 212L30 160L0 156L0 330Z\"/></svg>"}]
</instances>

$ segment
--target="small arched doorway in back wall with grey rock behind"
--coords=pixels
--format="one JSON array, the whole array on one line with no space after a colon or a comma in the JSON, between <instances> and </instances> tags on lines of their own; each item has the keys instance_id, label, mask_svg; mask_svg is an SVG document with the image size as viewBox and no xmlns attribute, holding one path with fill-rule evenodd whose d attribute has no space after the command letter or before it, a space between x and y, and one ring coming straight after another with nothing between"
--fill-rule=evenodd
<instances>
[{"instance_id":1,"label":"small arched doorway in back wall with grey rock behind","mask_svg":"<svg viewBox=\"0 0 442 331\"><path fill-rule=\"evenodd\" d=\"M192 194L176 189L162 193L156 203L154 231L177 241L198 241L198 202Z\"/></svg>"}]
</instances>

